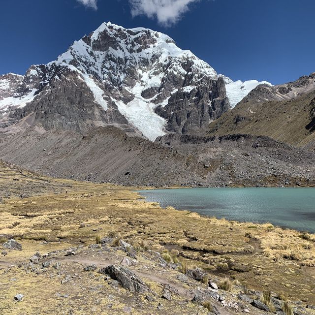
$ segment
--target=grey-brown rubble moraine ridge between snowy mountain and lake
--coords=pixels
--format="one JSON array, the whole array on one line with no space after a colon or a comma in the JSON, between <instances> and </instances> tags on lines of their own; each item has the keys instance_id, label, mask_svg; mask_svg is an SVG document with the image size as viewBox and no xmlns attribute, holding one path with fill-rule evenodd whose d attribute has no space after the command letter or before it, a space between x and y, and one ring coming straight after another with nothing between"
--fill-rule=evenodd
<instances>
[{"instance_id":1,"label":"grey-brown rubble moraine ridge between snowy mountain and lake","mask_svg":"<svg viewBox=\"0 0 315 315\"><path fill-rule=\"evenodd\" d=\"M126 186L315 186L315 152L244 134L152 143L115 127L85 135L29 128L0 134L0 158L48 176Z\"/></svg>"}]
</instances>

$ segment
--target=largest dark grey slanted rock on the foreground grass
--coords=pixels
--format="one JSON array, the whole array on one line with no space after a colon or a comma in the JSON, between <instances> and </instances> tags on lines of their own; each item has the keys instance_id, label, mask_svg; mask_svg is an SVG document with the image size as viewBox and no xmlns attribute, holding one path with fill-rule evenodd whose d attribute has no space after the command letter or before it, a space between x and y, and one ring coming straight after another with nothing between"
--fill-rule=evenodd
<instances>
[{"instance_id":1,"label":"largest dark grey slanted rock on the foreground grass","mask_svg":"<svg viewBox=\"0 0 315 315\"><path fill-rule=\"evenodd\" d=\"M109 275L112 279L117 280L122 287L131 292L144 293L149 290L142 279L125 266L109 265L100 269L99 272L103 275Z\"/></svg>"}]
</instances>

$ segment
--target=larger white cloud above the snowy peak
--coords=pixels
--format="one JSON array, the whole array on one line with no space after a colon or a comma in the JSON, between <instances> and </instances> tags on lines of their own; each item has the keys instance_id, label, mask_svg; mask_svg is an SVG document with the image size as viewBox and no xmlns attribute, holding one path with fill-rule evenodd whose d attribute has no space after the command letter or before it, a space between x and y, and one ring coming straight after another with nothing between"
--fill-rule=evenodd
<instances>
[{"instance_id":1,"label":"larger white cloud above the snowy peak","mask_svg":"<svg viewBox=\"0 0 315 315\"><path fill-rule=\"evenodd\" d=\"M164 26L175 24L189 10L189 3L199 0L129 0L132 16L157 18Z\"/></svg>"}]
</instances>

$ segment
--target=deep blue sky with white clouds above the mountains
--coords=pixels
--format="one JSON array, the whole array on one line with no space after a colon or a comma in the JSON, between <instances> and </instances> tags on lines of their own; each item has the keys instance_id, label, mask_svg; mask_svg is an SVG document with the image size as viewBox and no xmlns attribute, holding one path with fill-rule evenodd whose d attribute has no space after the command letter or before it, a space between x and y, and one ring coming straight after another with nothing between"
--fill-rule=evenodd
<instances>
[{"instance_id":1,"label":"deep blue sky with white clouds above the mountains","mask_svg":"<svg viewBox=\"0 0 315 315\"><path fill-rule=\"evenodd\" d=\"M314 0L2 0L0 74L55 60L110 21L167 33L233 80L279 84L315 71L314 12Z\"/></svg>"}]
</instances>

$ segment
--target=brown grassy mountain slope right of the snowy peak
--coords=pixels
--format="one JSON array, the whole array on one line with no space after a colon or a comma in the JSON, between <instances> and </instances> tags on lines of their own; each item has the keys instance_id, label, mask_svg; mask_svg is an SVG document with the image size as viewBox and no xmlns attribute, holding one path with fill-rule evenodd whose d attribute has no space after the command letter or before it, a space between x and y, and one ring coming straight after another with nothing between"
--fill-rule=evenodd
<instances>
[{"instance_id":1,"label":"brown grassy mountain slope right of the snowy peak","mask_svg":"<svg viewBox=\"0 0 315 315\"><path fill-rule=\"evenodd\" d=\"M209 126L210 135L265 135L315 149L315 73L274 87L260 85Z\"/></svg>"}]
</instances>

